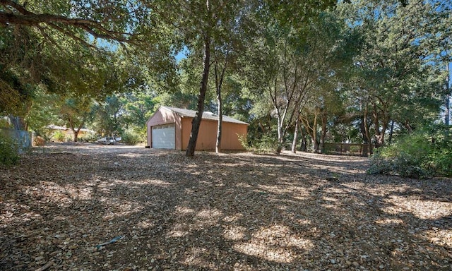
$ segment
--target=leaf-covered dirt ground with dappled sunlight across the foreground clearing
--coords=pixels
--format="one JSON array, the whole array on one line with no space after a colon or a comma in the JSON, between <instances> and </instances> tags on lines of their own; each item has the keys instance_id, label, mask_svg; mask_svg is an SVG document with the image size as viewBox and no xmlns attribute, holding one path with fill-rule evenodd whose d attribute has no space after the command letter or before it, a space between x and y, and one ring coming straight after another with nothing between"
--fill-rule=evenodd
<instances>
[{"instance_id":1,"label":"leaf-covered dirt ground with dappled sunlight across the foreground clearing","mask_svg":"<svg viewBox=\"0 0 452 271\"><path fill-rule=\"evenodd\" d=\"M35 148L0 167L0 270L452 270L452 180L367 163Z\"/></svg>"}]
</instances>

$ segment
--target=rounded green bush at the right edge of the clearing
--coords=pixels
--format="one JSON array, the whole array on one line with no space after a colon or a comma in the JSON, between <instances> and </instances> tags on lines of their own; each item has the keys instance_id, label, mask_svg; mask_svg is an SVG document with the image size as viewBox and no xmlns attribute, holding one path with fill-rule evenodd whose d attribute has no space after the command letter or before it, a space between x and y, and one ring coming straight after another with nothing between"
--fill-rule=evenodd
<instances>
[{"instance_id":1,"label":"rounded green bush at the right edge of the clearing","mask_svg":"<svg viewBox=\"0 0 452 271\"><path fill-rule=\"evenodd\" d=\"M399 174L411 178L452 176L450 128L431 126L376 150L369 174Z\"/></svg>"}]
</instances>

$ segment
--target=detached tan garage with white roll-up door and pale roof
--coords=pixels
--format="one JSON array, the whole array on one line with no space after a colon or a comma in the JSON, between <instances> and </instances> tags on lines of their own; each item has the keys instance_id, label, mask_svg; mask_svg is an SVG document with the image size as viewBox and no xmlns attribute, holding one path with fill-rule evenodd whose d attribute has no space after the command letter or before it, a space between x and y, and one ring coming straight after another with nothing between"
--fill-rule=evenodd
<instances>
[{"instance_id":1,"label":"detached tan garage with white roll-up door and pale roof","mask_svg":"<svg viewBox=\"0 0 452 271\"><path fill-rule=\"evenodd\" d=\"M148 144L146 147L156 149L186 150L189 145L191 121L196 111L174 107L160 107L146 122L148 130ZM222 118L221 149L244 150L239 142L239 135L246 136L248 132L246 122ZM217 141L218 116L210 112L203 113L199 127L196 150L215 150Z\"/></svg>"}]
</instances>

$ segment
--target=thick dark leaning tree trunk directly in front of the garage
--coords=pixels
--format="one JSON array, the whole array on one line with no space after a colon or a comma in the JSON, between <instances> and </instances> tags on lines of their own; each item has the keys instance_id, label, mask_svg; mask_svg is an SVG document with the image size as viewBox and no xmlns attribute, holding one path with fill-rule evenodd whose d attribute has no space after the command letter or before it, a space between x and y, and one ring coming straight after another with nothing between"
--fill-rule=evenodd
<instances>
[{"instance_id":1,"label":"thick dark leaning tree trunk directly in front of the garage","mask_svg":"<svg viewBox=\"0 0 452 271\"><path fill-rule=\"evenodd\" d=\"M192 157L195 155L196 140L198 140L199 126L201 126L201 119L204 112L204 100L206 99L207 83L209 78L210 68L210 33L206 32L204 37L204 63L203 63L203 79L201 80L201 86L199 88L198 95L198 112L196 112L193 121L191 121L191 133L189 139L189 145L186 147L185 155Z\"/></svg>"}]
</instances>

